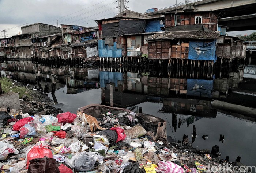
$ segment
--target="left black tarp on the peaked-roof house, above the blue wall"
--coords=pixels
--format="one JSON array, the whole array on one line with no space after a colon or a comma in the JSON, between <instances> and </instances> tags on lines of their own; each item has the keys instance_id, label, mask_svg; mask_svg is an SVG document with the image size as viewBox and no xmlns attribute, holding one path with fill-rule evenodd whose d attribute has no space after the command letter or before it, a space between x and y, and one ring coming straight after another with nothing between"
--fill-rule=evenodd
<instances>
[{"instance_id":1,"label":"left black tarp on the peaked-roof house, above the blue wall","mask_svg":"<svg viewBox=\"0 0 256 173\"><path fill-rule=\"evenodd\" d=\"M119 22L107 23L102 25L102 38L120 36Z\"/></svg>"}]
</instances>

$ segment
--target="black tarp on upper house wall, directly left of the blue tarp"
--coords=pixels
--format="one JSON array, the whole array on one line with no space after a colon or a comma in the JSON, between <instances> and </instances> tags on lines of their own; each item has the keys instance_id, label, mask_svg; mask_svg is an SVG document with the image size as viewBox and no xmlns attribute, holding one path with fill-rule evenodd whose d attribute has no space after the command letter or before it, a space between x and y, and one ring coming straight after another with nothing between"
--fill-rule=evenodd
<instances>
[{"instance_id":1,"label":"black tarp on upper house wall, directly left of the blue tarp","mask_svg":"<svg viewBox=\"0 0 256 173\"><path fill-rule=\"evenodd\" d=\"M121 35L144 33L144 29L146 28L146 21L120 20L119 27Z\"/></svg>"}]
</instances>

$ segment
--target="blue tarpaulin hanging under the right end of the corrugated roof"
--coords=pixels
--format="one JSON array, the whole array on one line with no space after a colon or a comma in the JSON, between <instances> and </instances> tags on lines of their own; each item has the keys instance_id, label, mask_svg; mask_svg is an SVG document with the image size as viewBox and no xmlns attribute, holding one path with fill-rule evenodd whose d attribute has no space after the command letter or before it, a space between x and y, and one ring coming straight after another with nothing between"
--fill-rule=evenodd
<instances>
[{"instance_id":1,"label":"blue tarpaulin hanging under the right end of the corrugated roof","mask_svg":"<svg viewBox=\"0 0 256 173\"><path fill-rule=\"evenodd\" d=\"M189 42L188 59L193 60L214 60L216 56L216 41L213 42Z\"/></svg>"}]
</instances>

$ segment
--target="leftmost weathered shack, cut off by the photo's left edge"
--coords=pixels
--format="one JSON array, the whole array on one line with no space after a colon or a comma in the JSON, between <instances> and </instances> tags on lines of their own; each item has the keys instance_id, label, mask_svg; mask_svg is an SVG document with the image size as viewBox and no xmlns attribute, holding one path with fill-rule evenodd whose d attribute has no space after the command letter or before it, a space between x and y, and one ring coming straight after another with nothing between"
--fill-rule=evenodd
<instances>
[{"instance_id":1,"label":"leftmost weathered shack, cut off by the photo's left edge","mask_svg":"<svg viewBox=\"0 0 256 173\"><path fill-rule=\"evenodd\" d=\"M0 39L0 43L0 59L17 57L14 38L2 38Z\"/></svg>"}]
</instances>

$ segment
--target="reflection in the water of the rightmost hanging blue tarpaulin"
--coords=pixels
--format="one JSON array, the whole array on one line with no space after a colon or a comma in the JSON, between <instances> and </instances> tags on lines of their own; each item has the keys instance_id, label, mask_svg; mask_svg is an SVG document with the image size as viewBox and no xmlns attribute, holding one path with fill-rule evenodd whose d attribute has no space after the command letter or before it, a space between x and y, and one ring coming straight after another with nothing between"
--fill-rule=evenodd
<instances>
[{"instance_id":1,"label":"reflection in the water of the rightmost hanging blue tarpaulin","mask_svg":"<svg viewBox=\"0 0 256 173\"><path fill-rule=\"evenodd\" d=\"M211 98L213 80L187 79L187 95Z\"/></svg>"}]
</instances>

